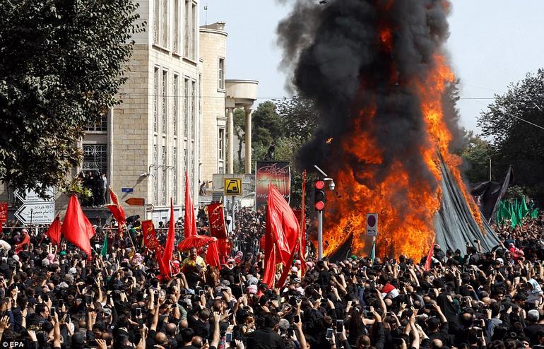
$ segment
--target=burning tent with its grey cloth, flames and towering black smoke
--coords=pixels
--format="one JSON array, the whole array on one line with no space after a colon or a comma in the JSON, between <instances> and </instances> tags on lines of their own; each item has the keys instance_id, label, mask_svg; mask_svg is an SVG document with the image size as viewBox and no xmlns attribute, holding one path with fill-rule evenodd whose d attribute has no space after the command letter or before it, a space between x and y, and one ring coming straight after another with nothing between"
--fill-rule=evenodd
<instances>
[{"instance_id":1,"label":"burning tent with its grey cloth, flames and towering black smoke","mask_svg":"<svg viewBox=\"0 0 544 349\"><path fill-rule=\"evenodd\" d=\"M379 213L378 254L424 255L497 238L463 184L456 77L444 43L447 0L295 0L278 26L288 86L314 102L319 129L297 155L334 179L324 232L368 253L365 213ZM330 141L332 139L332 141Z\"/></svg>"}]
</instances>

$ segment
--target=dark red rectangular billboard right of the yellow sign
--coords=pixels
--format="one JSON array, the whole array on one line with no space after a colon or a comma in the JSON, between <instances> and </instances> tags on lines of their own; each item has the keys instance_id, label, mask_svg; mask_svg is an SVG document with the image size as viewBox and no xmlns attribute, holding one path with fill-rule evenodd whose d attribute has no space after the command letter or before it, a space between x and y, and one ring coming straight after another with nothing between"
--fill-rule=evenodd
<instances>
[{"instance_id":1,"label":"dark red rectangular billboard right of the yellow sign","mask_svg":"<svg viewBox=\"0 0 544 349\"><path fill-rule=\"evenodd\" d=\"M286 161L257 161L255 175L255 207L262 209L268 199L268 184L271 183L285 201L291 195L291 170Z\"/></svg>"}]
</instances>

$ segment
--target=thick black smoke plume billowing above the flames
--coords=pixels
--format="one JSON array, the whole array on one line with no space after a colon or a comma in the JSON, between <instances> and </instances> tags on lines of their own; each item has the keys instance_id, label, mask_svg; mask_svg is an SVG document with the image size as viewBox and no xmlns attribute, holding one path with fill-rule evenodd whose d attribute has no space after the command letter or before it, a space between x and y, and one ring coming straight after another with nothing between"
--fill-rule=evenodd
<instances>
[{"instance_id":1,"label":"thick black smoke plume billowing above the flames","mask_svg":"<svg viewBox=\"0 0 544 349\"><path fill-rule=\"evenodd\" d=\"M285 2L285 1L284 1ZM442 53L449 35L448 1L432 0L293 0L288 18L278 25L288 85L313 100L319 129L297 154L297 167L321 165L326 171L350 167L355 178L373 187L401 162L410 183L437 185L421 157L428 148L425 121L418 94L408 81L425 81ZM392 45L384 48L381 35L391 32ZM447 126L459 134L458 116L450 98L443 98ZM375 107L374 117L354 123L360 110ZM338 147L346 135L372 130L383 152L383 162L370 165ZM333 138L332 145L326 142ZM365 169L378 166L377 175ZM328 173L329 173L328 172Z\"/></svg>"}]
</instances>

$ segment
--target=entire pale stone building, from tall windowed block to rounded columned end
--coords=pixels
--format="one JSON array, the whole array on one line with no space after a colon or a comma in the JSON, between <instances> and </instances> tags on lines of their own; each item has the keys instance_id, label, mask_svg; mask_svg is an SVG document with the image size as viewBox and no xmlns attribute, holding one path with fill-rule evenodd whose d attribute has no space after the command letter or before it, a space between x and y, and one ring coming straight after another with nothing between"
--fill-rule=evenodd
<instances>
[{"instance_id":1,"label":"entire pale stone building, from tall windowed block to rounded columned end","mask_svg":"<svg viewBox=\"0 0 544 349\"><path fill-rule=\"evenodd\" d=\"M209 187L213 174L233 172L232 112L245 108L251 128L257 82L225 78L225 23L199 28L198 0L139 3L138 24L145 22L146 30L132 37L128 79L119 90L122 103L88 126L79 144L83 163L70 175L103 172L126 215L166 223L170 198L176 217L184 209L186 171L195 206L209 201L199 201L202 183ZM247 134L245 144L251 144L251 131ZM244 153L248 149L250 164L250 148L246 146ZM13 218L19 203L1 187L0 202L10 203ZM125 204L130 198L143 198L146 206ZM66 195L57 194L56 213L64 213L67 201ZM93 223L110 216L103 207L89 207L93 203L102 205L100 199L83 202Z\"/></svg>"}]
</instances>

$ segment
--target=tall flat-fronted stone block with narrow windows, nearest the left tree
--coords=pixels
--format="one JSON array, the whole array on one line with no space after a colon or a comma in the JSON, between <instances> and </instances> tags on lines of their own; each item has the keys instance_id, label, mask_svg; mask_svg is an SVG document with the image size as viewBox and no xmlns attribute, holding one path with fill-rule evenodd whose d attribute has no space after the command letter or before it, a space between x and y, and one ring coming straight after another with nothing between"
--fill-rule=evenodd
<instances>
[{"instance_id":1,"label":"tall flat-fronted stone block with narrow windows, nearest the left tree","mask_svg":"<svg viewBox=\"0 0 544 349\"><path fill-rule=\"evenodd\" d=\"M126 69L126 84L119 91L122 104L101 122L90 125L80 143L81 171L105 172L121 202L145 198L148 218L169 217L170 198L175 211L184 204L184 173L198 203L201 154L201 80L198 0L141 0L138 24L144 32L133 35L134 53ZM4 186L2 186L4 187ZM57 213L67 198L57 194ZM0 201L17 206L7 188ZM126 214L146 215L143 206L123 204ZM13 211L10 207L10 218ZM84 208L91 220L105 218L104 208Z\"/></svg>"}]
</instances>

